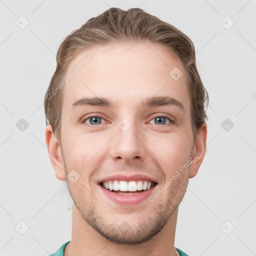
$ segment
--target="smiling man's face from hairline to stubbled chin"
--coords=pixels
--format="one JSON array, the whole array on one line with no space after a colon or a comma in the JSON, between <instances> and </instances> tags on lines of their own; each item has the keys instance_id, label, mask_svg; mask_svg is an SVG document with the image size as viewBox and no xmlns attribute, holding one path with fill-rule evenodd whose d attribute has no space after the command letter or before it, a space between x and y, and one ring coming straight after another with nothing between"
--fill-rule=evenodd
<instances>
[{"instance_id":1,"label":"smiling man's face from hairline to stubbled chin","mask_svg":"<svg viewBox=\"0 0 256 256\"><path fill-rule=\"evenodd\" d=\"M83 50L67 73L94 48L98 53L62 91L64 168L55 170L69 177L84 221L115 243L140 243L177 210L202 160L180 170L197 149L185 70L167 49L148 42ZM173 68L183 73L178 79L169 74Z\"/></svg>"}]
</instances>

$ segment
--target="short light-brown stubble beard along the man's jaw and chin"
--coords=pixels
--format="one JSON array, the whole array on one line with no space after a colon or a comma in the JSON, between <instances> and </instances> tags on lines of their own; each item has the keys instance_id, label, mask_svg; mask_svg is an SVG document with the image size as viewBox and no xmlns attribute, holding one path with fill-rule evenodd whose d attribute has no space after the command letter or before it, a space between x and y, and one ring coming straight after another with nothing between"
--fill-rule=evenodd
<instances>
[{"instance_id":1,"label":"short light-brown stubble beard along the man's jaw and chin","mask_svg":"<svg viewBox=\"0 0 256 256\"><path fill-rule=\"evenodd\" d=\"M110 214L103 206L104 203L100 203L100 198L96 199L94 197L93 191L89 191L83 184L71 183L67 180L70 196L83 220L107 240L116 244L127 245L148 241L161 231L182 201L186 192L186 185L187 182L177 179L165 191L168 192L168 199L165 202L160 201L159 198L157 198L158 201L155 200L154 202L149 202L148 200L149 203L154 203L155 205L153 213L143 218L144 221L134 225L127 223L125 219L123 219L123 222L117 223L114 212ZM85 201L84 192L91 198L90 203ZM110 218L107 218L106 214L110 215ZM143 209L139 214L143 214Z\"/></svg>"}]
</instances>

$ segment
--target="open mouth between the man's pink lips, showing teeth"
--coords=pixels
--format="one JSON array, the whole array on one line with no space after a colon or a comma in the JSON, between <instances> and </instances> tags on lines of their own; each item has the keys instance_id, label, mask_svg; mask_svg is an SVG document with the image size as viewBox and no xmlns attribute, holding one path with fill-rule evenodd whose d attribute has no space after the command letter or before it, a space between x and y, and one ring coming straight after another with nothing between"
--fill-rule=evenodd
<instances>
[{"instance_id":1,"label":"open mouth between the man's pink lips, showing teeth","mask_svg":"<svg viewBox=\"0 0 256 256\"><path fill-rule=\"evenodd\" d=\"M120 195L143 193L157 183L151 180L106 180L99 183L104 189Z\"/></svg>"}]
</instances>

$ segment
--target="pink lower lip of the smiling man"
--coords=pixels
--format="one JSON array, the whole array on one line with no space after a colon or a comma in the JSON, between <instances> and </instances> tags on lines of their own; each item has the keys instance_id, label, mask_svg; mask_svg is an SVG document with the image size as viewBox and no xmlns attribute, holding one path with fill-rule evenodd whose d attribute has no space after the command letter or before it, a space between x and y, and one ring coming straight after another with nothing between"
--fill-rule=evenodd
<instances>
[{"instance_id":1,"label":"pink lower lip of the smiling man","mask_svg":"<svg viewBox=\"0 0 256 256\"><path fill-rule=\"evenodd\" d=\"M156 185L152 186L150 189L143 192L138 192L137 194L118 194L111 192L103 186L99 185L101 191L112 201L123 204L123 205L133 205L142 202L145 199L148 199L152 194ZM148 199L149 200L149 199Z\"/></svg>"}]
</instances>

